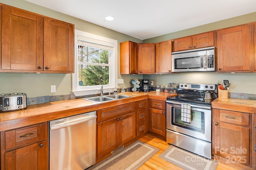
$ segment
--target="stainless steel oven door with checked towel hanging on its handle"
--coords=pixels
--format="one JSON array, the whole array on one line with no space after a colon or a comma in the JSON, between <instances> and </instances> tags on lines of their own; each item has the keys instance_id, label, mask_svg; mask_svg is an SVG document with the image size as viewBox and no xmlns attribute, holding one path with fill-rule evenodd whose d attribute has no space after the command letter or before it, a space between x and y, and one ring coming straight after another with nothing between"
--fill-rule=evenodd
<instances>
[{"instance_id":1,"label":"stainless steel oven door with checked towel hanging on its handle","mask_svg":"<svg viewBox=\"0 0 256 170\"><path fill-rule=\"evenodd\" d=\"M181 121L181 103L166 102L166 129L211 142L212 111L208 106L191 106L191 123Z\"/></svg>"}]
</instances>

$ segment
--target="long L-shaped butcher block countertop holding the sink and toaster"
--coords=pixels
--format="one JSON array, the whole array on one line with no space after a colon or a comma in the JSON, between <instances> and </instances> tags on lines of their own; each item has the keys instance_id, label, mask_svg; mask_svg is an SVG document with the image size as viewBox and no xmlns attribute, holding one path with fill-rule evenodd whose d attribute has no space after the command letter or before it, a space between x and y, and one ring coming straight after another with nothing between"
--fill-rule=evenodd
<instances>
[{"instance_id":1,"label":"long L-shaped butcher block countertop holding the sink and toaster","mask_svg":"<svg viewBox=\"0 0 256 170\"><path fill-rule=\"evenodd\" d=\"M124 98L104 103L89 102L84 99L63 100L58 102L49 102L45 104L30 105L27 109L0 113L0 131L15 129L36 123L60 119L80 113L96 111L107 107L118 106L130 102L136 102L144 99L166 100L167 97L176 96L176 94L163 92L125 92L118 93L130 98Z\"/></svg>"}]
</instances>

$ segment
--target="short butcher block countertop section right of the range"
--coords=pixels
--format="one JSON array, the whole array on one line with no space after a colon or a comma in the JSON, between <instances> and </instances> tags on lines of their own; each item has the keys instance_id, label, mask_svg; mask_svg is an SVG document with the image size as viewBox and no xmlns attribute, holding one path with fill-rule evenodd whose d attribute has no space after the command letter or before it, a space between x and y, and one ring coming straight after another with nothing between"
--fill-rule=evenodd
<instances>
[{"instance_id":1,"label":"short butcher block countertop section right of the range","mask_svg":"<svg viewBox=\"0 0 256 170\"><path fill-rule=\"evenodd\" d=\"M244 113L255 113L256 100L248 99L216 99L212 102L212 108L239 111Z\"/></svg>"}]
</instances>

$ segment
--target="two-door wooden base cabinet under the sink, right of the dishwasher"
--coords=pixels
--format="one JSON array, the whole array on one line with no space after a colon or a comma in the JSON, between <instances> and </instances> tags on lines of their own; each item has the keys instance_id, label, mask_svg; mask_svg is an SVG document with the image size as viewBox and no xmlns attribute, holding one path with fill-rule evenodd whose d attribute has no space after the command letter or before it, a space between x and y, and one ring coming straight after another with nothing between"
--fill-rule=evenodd
<instances>
[{"instance_id":1,"label":"two-door wooden base cabinet under the sink, right of the dishwasher","mask_svg":"<svg viewBox=\"0 0 256 170\"><path fill-rule=\"evenodd\" d=\"M98 110L97 158L136 137L135 102Z\"/></svg>"}]
</instances>

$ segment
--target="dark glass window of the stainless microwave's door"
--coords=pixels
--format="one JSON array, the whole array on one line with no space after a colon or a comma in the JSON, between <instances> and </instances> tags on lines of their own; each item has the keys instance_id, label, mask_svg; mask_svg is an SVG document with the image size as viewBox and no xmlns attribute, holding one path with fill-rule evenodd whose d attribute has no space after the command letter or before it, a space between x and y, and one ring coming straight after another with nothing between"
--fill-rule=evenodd
<instances>
[{"instance_id":1,"label":"dark glass window of the stainless microwave's door","mask_svg":"<svg viewBox=\"0 0 256 170\"><path fill-rule=\"evenodd\" d=\"M192 68L202 68L204 67L204 57L186 57L180 59L174 59L175 69L192 69Z\"/></svg>"}]
</instances>

